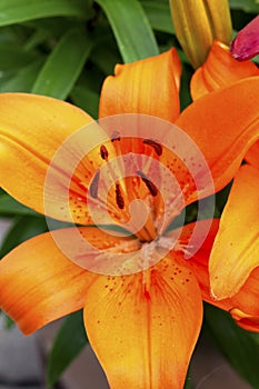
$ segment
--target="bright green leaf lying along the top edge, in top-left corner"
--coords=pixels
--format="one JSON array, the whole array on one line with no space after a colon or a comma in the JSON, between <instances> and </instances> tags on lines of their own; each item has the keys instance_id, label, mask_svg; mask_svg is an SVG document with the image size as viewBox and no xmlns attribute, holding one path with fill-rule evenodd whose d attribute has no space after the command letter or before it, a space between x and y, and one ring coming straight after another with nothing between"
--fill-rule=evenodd
<instances>
[{"instance_id":1,"label":"bright green leaf lying along the top edge, in top-left corner","mask_svg":"<svg viewBox=\"0 0 259 389\"><path fill-rule=\"evenodd\" d=\"M0 26L54 16L82 18L90 4L89 0L1 0Z\"/></svg>"}]
</instances>

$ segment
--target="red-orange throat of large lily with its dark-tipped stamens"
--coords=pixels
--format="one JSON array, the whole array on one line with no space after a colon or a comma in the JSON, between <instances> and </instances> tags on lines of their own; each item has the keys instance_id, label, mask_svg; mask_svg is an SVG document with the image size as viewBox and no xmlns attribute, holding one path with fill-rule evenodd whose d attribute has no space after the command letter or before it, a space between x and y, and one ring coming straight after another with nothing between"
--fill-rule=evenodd
<instances>
[{"instance_id":1,"label":"red-orange throat of large lily with its dark-tipped stamens","mask_svg":"<svg viewBox=\"0 0 259 389\"><path fill-rule=\"evenodd\" d=\"M159 218L163 215L163 197L159 191L162 174L159 158L162 146L153 139L123 139L118 131L111 137L116 158L109 146L101 144L99 156L107 163L97 170L89 187L91 200L106 206L109 216L140 241L159 236ZM137 149L137 150L136 150ZM133 150L135 152L124 152Z\"/></svg>"}]
</instances>

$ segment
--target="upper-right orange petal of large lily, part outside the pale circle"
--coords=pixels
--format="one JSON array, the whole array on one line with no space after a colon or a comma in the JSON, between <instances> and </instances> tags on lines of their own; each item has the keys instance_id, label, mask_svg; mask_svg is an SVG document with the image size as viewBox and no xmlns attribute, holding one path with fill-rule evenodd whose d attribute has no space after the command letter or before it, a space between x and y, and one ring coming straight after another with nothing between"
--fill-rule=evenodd
<instances>
[{"instance_id":1,"label":"upper-right orange petal of large lily, part outside the pale circle","mask_svg":"<svg viewBox=\"0 0 259 389\"><path fill-rule=\"evenodd\" d=\"M216 191L235 176L247 150L259 138L259 77L208 93L177 120L203 153Z\"/></svg>"}]
</instances>

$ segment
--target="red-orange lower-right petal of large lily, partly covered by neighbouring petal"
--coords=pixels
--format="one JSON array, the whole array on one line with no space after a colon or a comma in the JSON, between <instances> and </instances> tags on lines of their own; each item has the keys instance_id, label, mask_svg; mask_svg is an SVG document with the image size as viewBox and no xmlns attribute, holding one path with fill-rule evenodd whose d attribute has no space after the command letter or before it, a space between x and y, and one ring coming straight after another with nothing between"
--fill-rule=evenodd
<instances>
[{"instance_id":1,"label":"red-orange lower-right petal of large lily, partly covered by neighbouring petal","mask_svg":"<svg viewBox=\"0 0 259 389\"><path fill-rule=\"evenodd\" d=\"M200 226L207 226L206 220L199 221ZM181 235L181 242L188 243L196 223L190 223L183 227ZM178 255L178 260L189 267L191 272L196 276L200 289L202 299L218 308L229 311L236 322L250 331L259 331L259 268L255 269L245 282L242 288L232 298L223 300L215 300L210 293L209 282L209 256L218 232L219 220L215 219L207 239L200 247L200 249L188 261L182 262L181 256ZM201 229L202 230L202 229Z\"/></svg>"}]
</instances>

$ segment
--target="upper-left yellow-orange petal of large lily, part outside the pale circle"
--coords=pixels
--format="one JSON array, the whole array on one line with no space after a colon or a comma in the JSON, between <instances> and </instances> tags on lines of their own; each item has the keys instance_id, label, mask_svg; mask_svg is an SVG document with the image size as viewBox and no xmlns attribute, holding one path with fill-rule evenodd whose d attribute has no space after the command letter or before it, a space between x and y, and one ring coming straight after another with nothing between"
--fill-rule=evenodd
<instances>
[{"instance_id":1,"label":"upper-left yellow-orange petal of large lily, part outside the pale circle","mask_svg":"<svg viewBox=\"0 0 259 389\"><path fill-rule=\"evenodd\" d=\"M43 212L43 187L54 152L91 122L82 110L47 97L0 94L1 182L11 196Z\"/></svg>"}]
</instances>

